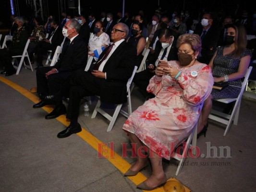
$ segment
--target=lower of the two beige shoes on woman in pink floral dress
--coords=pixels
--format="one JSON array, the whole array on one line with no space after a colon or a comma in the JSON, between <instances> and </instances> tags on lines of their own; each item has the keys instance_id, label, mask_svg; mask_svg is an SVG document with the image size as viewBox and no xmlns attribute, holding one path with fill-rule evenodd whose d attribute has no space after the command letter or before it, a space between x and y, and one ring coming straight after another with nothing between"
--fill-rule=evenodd
<instances>
[{"instance_id":1,"label":"lower of the two beige shoes on woman in pink floral dress","mask_svg":"<svg viewBox=\"0 0 256 192\"><path fill-rule=\"evenodd\" d=\"M137 185L137 188L150 191L166 183L166 181L167 177L164 173L157 176L151 175L150 178Z\"/></svg>"}]
</instances>

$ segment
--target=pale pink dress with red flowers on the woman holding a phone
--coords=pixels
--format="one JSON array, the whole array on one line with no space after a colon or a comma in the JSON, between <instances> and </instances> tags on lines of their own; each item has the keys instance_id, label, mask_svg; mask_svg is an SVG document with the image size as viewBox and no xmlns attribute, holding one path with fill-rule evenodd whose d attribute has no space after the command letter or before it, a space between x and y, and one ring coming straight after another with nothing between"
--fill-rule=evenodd
<instances>
[{"instance_id":1,"label":"pale pink dress with red flowers on the woman holding a phone","mask_svg":"<svg viewBox=\"0 0 256 192\"><path fill-rule=\"evenodd\" d=\"M201 107L213 85L211 69L198 63L181 68L178 61L169 66L182 71L177 80L155 75L147 91L156 95L137 108L123 125L159 156L170 160L175 146L189 136Z\"/></svg>"}]
</instances>

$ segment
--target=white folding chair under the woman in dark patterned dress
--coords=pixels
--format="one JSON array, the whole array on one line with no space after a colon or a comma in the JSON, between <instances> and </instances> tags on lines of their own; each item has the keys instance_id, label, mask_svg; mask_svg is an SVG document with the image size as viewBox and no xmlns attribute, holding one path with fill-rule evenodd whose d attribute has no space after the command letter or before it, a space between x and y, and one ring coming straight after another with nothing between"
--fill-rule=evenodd
<instances>
[{"instance_id":1,"label":"white folding chair under the woman in dark patterned dress","mask_svg":"<svg viewBox=\"0 0 256 192\"><path fill-rule=\"evenodd\" d=\"M250 76L251 71L252 71L252 66L250 66L247 69L247 71L244 75L244 82L243 82L242 87L241 87L241 92L240 92L240 94L238 95L237 98L215 99L215 101L218 101L218 102L221 102L221 103L226 103L226 104L235 101L235 105L233 107L231 115L228 115L226 113L223 113L223 112L220 112L218 110L212 109L211 113L208 117L211 120L216 120L218 122L221 122L221 123L227 125L223 136L226 136L226 134L228 133L228 131L230 129L230 126L232 124L232 121L233 121L234 125L237 125L237 123L238 123L241 99L242 99L244 89L245 89L245 86L248 82L248 78Z\"/></svg>"}]
</instances>

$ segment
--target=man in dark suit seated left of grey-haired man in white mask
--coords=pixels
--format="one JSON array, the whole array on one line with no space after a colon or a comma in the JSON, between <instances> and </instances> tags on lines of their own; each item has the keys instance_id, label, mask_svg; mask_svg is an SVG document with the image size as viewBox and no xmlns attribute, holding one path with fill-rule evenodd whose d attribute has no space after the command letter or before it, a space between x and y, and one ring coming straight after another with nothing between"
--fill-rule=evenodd
<instances>
[{"instance_id":1,"label":"man in dark suit seated left of grey-haired man in white mask","mask_svg":"<svg viewBox=\"0 0 256 192\"><path fill-rule=\"evenodd\" d=\"M62 28L55 21L51 21L50 27L53 30L52 33L48 36L48 38L43 39L43 41L39 41L37 43L37 68L43 66L43 56L45 52L51 50L52 55L54 55L57 46L61 45L64 38L64 36L62 35Z\"/></svg>"}]
</instances>

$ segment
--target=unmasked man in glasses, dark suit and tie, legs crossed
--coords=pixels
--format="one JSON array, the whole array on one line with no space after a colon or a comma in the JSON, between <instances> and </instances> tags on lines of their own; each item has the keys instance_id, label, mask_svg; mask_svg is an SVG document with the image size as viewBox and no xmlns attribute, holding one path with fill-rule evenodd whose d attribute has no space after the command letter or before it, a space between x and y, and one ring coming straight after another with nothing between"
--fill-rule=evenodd
<instances>
[{"instance_id":1,"label":"unmasked man in glasses, dark suit and tie, legs crossed","mask_svg":"<svg viewBox=\"0 0 256 192\"><path fill-rule=\"evenodd\" d=\"M60 132L59 138L68 137L80 132L81 126L77 122L80 100L84 96L100 96L106 103L121 104L127 101L126 84L134 70L136 49L127 45L125 38L129 33L126 24L114 25L111 32L113 44L100 54L92 72L77 72L72 75L67 90L69 104L67 119L70 125Z\"/></svg>"}]
</instances>

